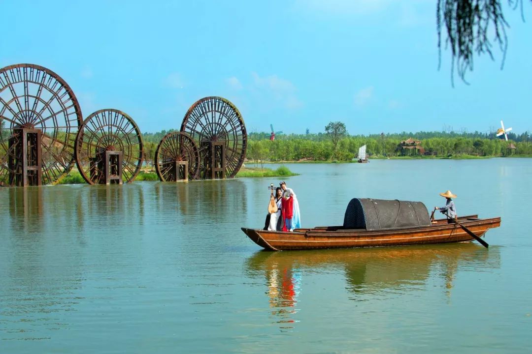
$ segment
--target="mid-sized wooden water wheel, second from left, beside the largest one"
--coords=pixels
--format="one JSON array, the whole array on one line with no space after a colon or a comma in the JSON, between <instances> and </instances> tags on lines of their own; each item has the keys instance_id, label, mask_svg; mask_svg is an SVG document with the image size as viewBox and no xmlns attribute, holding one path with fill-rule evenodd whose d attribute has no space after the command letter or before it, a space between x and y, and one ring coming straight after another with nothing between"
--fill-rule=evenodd
<instances>
[{"instance_id":1,"label":"mid-sized wooden water wheel, second from left, beside the largest one","mask_svg":"<svg viewBox=\"0 0 532 354\"><path fill-rule=\"evenodd\" d=\"M140 172L143 142L130 116L101 109L85 119L76 136L76 163L89 184L130 183Z\"/></svg>"}]
</instances>

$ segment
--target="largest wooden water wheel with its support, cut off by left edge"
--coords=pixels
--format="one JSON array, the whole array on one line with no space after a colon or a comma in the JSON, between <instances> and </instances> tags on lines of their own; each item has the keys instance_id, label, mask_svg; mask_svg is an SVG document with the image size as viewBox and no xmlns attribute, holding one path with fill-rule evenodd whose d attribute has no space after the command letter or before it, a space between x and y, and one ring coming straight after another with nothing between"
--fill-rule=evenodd
<instances>
[{"instance_id":1,"label":"largest wooden water wheel with its support, cut off by left edge","mask_svg":"<svg viewBox=\"0 0 532 354\"><path fill-rule=\"evenodd\" d=\"M34 64L0 69L0 185L59 183L74 166L83 117L72 89Z\"/></svg>"}]
</instances>

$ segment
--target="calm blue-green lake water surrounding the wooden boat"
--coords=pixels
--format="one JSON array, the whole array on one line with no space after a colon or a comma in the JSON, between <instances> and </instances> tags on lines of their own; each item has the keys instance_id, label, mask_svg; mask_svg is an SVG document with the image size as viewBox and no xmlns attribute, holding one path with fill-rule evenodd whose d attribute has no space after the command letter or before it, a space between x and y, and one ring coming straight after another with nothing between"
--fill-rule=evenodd
<instances>
[{"instance_id":1,"label":"calm blue-green lake water surrounding the wooden boat","mask_svg":"<svg viewBox=\"0 0 532 354\"><path fill-rule=\"evenodd\" d=\"M501 227L489 249L272 253L240 227L273 178L2 188L0 352L530 352L531 159L287 166L304 227L447 189Z\"/></svg>"}]
</instances>

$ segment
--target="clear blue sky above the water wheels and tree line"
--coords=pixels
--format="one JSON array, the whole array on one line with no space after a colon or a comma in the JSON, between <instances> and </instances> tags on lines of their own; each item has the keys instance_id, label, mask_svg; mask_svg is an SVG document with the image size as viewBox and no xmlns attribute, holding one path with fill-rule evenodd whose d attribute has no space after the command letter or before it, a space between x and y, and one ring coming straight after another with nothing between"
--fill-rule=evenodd
<instances>
[{"instance_id":1,"label":"clear blue sky above the water wheels and tree line","mask_svg":"<svg viewBox=\"0 0 532 354\"><path fill-rule=\"evenodd\" d=\"M0 66L48 67L84 117L117 108L144 132L179 128L205 96L235 103L250 132L486 132L501 119L530 132L532 27L503 6L504 69L498 51L476 58L454 88L448 52L437 70L435 0L3 1Z\"/></svg>"}]
</instances>

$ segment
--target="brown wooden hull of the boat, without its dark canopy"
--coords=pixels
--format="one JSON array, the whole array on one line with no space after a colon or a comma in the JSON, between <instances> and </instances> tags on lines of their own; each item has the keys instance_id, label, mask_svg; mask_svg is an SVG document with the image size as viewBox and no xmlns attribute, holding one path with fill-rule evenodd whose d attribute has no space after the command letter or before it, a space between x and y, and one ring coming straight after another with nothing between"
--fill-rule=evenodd
<instances>
[{"instance_id":1,"label":"brown wooden hull of the boat, without its dark canopy","mask_svg":"<svg viewBox=\"0 0 532 354\"><path fill-rule=\"evenodd\" d=\"M483 236L488 229L501 225L501 218L478 219L476 215L459 218L459 222ZM296 229L293 232L242 228L257 245L271 251L319 248L356 248L469 242L473 238L455 223L437 220L427 227L389 230L344 230L339 227Z\"/></svg>"}]
</instances>

